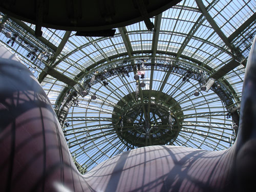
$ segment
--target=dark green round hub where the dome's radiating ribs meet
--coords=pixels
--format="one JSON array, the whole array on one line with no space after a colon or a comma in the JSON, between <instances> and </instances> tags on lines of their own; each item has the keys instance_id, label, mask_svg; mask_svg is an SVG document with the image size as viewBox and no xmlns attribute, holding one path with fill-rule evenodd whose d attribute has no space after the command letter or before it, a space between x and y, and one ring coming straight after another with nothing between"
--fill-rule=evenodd
<instances>
[{"instance_id":1,"label":"dark green round hub where the dome's radiating ribs meet","mask_svg":"<svg viewBox=\"0 0 256 192\"><path fill-rule=\"evenodd\" d=\"M115 130L129 147L172 144L179 134L177 114L173 112L181 109L177 102L164 93L151 91L150 98L148 93L143 90L143 99L137 101L135 93L126 95L114 108Z\"/></svg>"}]
</instances>

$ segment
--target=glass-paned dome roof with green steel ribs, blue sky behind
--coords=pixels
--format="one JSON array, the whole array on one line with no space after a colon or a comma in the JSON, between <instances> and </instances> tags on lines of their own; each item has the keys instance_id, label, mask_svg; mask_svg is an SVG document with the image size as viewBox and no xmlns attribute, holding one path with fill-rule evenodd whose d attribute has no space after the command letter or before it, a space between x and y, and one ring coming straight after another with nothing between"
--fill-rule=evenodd
<instances>
[{"instance_id":1,"label":"glass-paned dome roof with green steel ribs, blue sky behind","mask_svg":"<svg viewBox=\"0 0 256 192\"><path fill-rule=\"evenodd\" d=\"M0 40L41 83L84 173L141 146L230 147L255 11L255 0L185 0L151 18L153 31L139 22L114 37L42 28L39 38L1 13Z\"/></svg>"}]
</instances>

